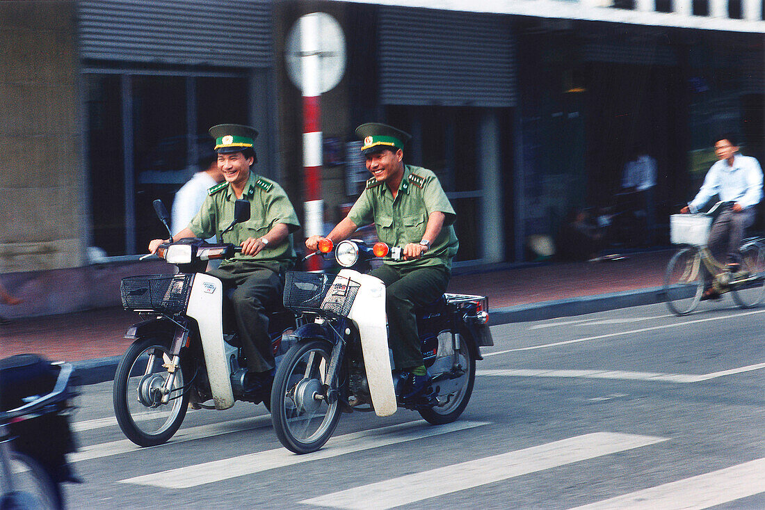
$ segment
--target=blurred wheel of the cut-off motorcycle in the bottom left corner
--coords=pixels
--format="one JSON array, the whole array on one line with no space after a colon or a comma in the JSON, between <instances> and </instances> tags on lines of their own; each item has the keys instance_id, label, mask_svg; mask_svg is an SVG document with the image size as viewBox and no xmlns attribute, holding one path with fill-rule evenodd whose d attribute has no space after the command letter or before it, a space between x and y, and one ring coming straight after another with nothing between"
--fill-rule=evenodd
<instances>
[{"instance_id":1,"label":"blurred wheel of the cut-off motorcycle in the bottom left corner","mask_svg":"<svg viewBox=\"0 0 765 510\"><path fill-rule=\"evenodd\" d=\"M60 487L28 455L11 452L14 491L0 497L0 510L58 510L63 507Z\"/></svg>"}]
</instances>

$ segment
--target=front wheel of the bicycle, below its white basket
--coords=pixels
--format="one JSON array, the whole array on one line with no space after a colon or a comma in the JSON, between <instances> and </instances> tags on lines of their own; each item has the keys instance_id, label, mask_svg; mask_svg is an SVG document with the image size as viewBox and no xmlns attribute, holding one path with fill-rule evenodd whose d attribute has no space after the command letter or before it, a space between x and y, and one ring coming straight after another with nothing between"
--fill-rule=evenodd
<instances>
[{"instance_id":1,"label":"front wheel of the bicycle, below its white basket","mask_svg":"<svg viewBox=\"0 0 765 510\"><path fill-rule=\"evenodd\" d=\"M702 299L704 273L702 254L696 248L675 253L664 275L664 299L675 315L692 312Z\"/></svg>"}]
</instances>

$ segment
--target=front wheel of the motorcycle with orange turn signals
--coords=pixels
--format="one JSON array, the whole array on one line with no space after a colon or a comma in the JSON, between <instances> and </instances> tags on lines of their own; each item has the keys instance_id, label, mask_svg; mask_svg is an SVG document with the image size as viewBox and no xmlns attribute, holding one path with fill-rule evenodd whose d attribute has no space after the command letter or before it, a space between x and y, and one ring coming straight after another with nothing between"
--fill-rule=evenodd
<instances>
[{"instance_id":1,"label":"front wheel of the motorcycle with orange turn signals","mask_svg":"<svg viewBox=\"0 0 765 510\"><path fill-rule=\"evenodd\" d=\"M324 398L324 375L332 346L311 340L293 346L282 359L271 391L271 420L279 441L295 453L315 452L327 443L337 421L340 404Z\"/></svg>"}]
</instances>

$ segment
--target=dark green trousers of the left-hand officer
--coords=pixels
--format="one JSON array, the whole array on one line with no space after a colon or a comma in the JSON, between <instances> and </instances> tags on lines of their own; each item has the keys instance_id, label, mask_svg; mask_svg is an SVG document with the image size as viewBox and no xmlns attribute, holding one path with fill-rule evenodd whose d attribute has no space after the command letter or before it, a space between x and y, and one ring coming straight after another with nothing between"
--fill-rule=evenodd
<instances>
[{"instance_id":1,"label":"dark green trousers of the left-hand officer","mask_svg":"<svg viewBox=\"0 0 765 510\"><path fill-rule=\"evenodd\" d=\"M274 368L267 311L278 305L284 292L284 278L278 267L264 264L216 269L207 274L220 278L224 289L234 289L231 304L248 370L266 372Z\"/></svg>"}]
</instances>

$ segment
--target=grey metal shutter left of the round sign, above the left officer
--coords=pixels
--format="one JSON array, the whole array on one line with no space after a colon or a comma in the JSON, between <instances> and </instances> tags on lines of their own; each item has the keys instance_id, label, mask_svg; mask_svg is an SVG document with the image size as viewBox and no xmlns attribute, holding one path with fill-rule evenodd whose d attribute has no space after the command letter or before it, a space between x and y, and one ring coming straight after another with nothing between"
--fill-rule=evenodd
<instances>
[{"instance_id":1,"label":"grey metal shutter left of the round sign, above the left officer","mask_svg":"<svg viewBox=\"0 0 765 510\"><path fill-rule=\"evenodd\" d=\"M270 67L271 3L80 0L80 57Z\"/></svg>"}]
</instances>

